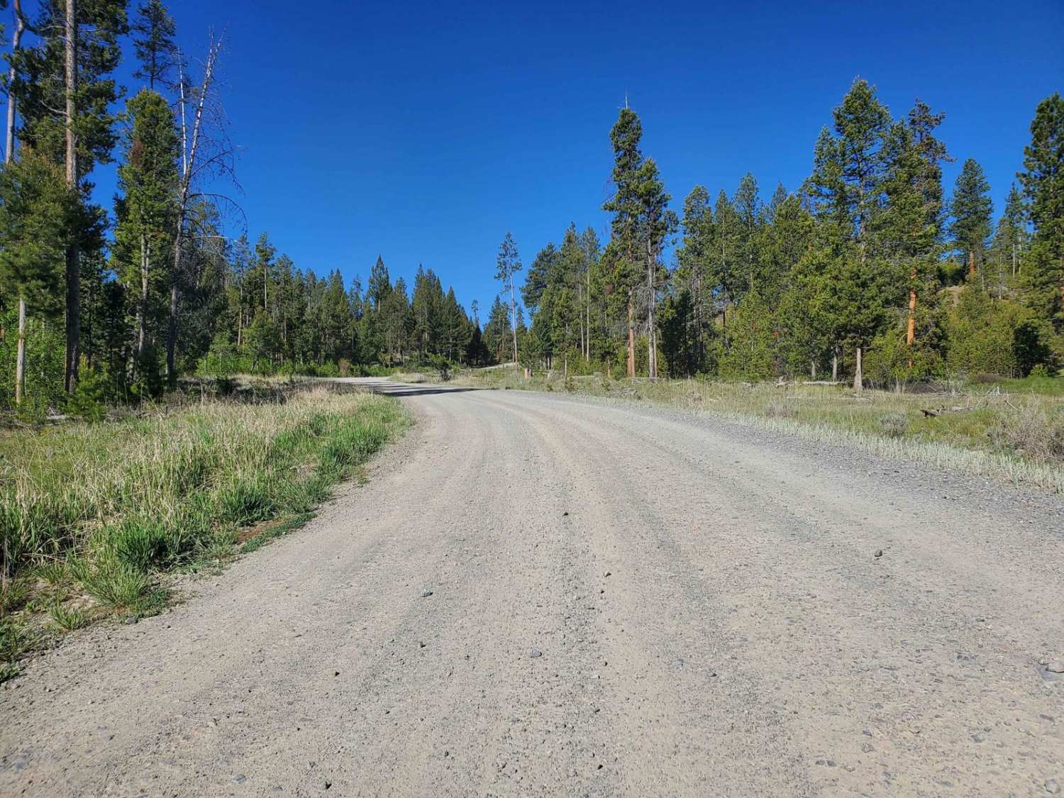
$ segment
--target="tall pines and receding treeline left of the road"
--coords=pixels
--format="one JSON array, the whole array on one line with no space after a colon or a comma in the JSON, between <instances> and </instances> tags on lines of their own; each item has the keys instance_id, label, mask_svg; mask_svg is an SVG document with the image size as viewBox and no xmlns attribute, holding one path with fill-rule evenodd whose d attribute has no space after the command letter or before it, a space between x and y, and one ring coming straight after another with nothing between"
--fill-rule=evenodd
<instances>
[{"instance_id":1,"label":"tall pines and receding treeline left of the road","mask_svg":"<svg viewBox=\"0 0 1064 798\"><path fill-rule=\"evenodd\" d=\"M431 270L419 268L409 295L378 259L363 292L338 269L298 268L265 233L253 245L227 237L226 222L243 214L225 194L234 149L213 35L189 59L160 0L132 14L122 0L16 1L12 11L0 409L84 415L159 396L192 372L353 373L412 355L492 362L478 321ZM140 85L127 97L113 74L128 39ZM109 216L90 177L115 162Z\"/></svg>"}]
</instances>

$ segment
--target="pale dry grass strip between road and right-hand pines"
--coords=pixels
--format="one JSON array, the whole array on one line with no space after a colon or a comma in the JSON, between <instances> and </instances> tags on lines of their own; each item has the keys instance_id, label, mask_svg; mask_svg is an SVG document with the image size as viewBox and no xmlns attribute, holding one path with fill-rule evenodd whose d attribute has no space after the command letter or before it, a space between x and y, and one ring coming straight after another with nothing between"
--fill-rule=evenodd
<instances>
[{"instance_id":1,"label":"pale dry grass strip between road and right-hand pines","mask_svg":"<svg viewBox=\"0 0 1064 798\"><path fill-rule=\"evenodd\" d=\"M629 380L475 369L455 384L638 401L1064 493L1064 378L982 379L919 392L845 385ZM947 411L936 416L922 410ZM953 409L959 410L953 410Z\"/></svg>"}]
</instances>

